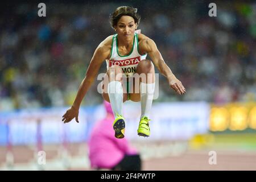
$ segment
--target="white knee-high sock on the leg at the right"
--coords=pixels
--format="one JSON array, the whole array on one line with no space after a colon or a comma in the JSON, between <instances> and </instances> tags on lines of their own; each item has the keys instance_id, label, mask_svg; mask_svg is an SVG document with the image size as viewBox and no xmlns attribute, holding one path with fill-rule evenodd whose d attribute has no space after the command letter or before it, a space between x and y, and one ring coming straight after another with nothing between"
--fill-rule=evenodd
<instances>
[{"instance_id":1,"label":"white knee-high sock on the leg at the right","mask_svg":"<svg viewBox=\"0 0 256 182\"><path fill-rule=\"evenodd\" d=\"M141 118L149 117L154 98L155 82L145 84L141 82Z\"/></svg>"}]
</instances>

